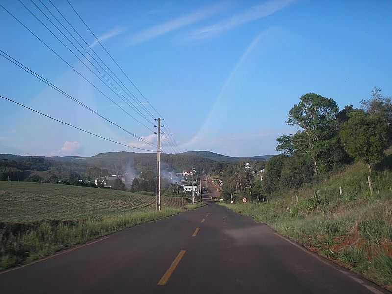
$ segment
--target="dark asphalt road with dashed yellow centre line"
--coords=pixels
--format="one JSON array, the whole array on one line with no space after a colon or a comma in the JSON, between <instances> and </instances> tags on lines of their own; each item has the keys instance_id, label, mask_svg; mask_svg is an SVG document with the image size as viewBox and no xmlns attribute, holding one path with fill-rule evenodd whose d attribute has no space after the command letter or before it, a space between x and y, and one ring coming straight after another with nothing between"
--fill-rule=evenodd
<instances>
[{"instance_id":1,"label":"dark asphalt road with dashed yellow centre line","mask_svg":"<svg viewBox=\"0 0 392 294\"><path fill-rule=\"evenodd\" d=\"M387 291L306 252L266 225L209 203L3 272L0 293Z\"/></svg>"}]
</instances>

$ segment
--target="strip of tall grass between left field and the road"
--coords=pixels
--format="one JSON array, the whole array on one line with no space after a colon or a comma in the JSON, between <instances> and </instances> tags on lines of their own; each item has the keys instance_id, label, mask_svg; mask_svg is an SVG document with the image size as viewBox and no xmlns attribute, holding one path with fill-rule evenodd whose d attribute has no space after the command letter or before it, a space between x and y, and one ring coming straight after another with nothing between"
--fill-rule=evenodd
<instances>
[{"instance_id":1,"label":"strip of tall grass between left field and the road","mask_svg":"<svg viewBox=\"0 0 392 294\"><path fill-rule=\"evenodd\" d=\"M167 208L160 212L128 212L74 223L53 224L51 221L40 221L31 228L16 233L9 230L7 232L3 223L3 229L0 230L0 270L31 262L73 245L181 211L183 210Z\"/></svg>"}]
</instances>

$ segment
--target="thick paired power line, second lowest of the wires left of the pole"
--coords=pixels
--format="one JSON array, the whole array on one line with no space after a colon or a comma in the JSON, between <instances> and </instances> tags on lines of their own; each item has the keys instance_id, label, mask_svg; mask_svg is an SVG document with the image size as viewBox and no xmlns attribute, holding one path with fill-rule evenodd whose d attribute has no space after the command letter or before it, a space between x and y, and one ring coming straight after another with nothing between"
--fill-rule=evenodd
<instances>
[{"instance_id":1,"label":"thick paired power line, second lowest of the wires left of the pole","mask_svg":"<svg viewBox=\"0 0 392 294\"><path fill-rule=\"evenodd\" d=\"M30 68L26 67L24 64L22 64L21 62L19 62L18 60L16 60L15 58L11 57L10 55L8 55L6 52L4 52L3 50L0 49L0 55L2 57L4 57L5 59L7 59L8 61L12 62L13 64L15 64L16 66L18 66L19 68L21 68L22 70L24 70L27 73L30 73L32 76L34 76L35 78L37 78L38 80L44 82L45 84L47 84L49 87L53 88L54 90L56 90L57 92L63 94L64 96L66 96L67 98L70 98L71 100L73 100L74 102L76 102L77 104L83 106L84 108L86 108L87 110L93 112L94 114L98 115L100 118L104 119L105 121L112 123L113 125L117 126L118 128L122 129L123 131L125 131L126 133L132 135L133 137L143 141L144 143L155 147L155 145L151 144L150 142L148 142L147 140L129 132L128 130L124 129L123 127L121 127L120 125L113 123L112 121L110 121L109 119L105 118L104 116L102 116L101 114L99 114L98 112L96 112L95 110L91 109L89 106L85 105L84 103L80 102L79 100L77 100L76 98L74 98L73 96L69 95L68 93L66 93L65 91L63 91L62 89L60 89L59 87L57 87L56 85L52 84L51 82L49 82L47 79L45 79L43 76L41 76L40 74L34 72L33 70L31 70Z\"/></svg>"}]
</instances>

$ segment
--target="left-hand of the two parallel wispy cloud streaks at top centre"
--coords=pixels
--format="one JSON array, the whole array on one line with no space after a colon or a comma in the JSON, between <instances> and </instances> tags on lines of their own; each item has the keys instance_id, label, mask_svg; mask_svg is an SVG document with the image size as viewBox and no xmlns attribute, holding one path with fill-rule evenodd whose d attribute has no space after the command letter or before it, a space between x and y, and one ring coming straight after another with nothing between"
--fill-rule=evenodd
<instances>
[{"instance_id":1,"label":"left-hand of the two parallel wispy cloud streaks at top centre","mask_svg":"<svg viewBox=\"0 0 392 294\"><path fill-rule=\"evenodd\" d=\"M142 30L131 36L130 44L135 45L146 42L153 38L159 37L163 34L169 33L173 30L180 29L186 25L193 24L202 19L210 17L220 12L224 7L222 5L214 5L207 8L200 9L194 13L180 16L173 20L167 21L163 24L155 25L153 27Z\"/></svg>"}]
</instances>

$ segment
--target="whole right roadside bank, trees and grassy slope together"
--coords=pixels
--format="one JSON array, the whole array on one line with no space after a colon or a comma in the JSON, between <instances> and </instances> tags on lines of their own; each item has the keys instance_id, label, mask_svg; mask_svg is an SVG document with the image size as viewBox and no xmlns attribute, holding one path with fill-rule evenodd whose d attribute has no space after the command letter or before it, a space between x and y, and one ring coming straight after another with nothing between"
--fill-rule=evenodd
<instances>
[{"instance_id":1,"label":"whole right roadside bank, trees and grassy slope together","mask_svg":"<svg viewBox=\"0 0 392 294\"><path fill-rule=\"evenodd\" d=\"M374 88L340 110L309 93L289 111L297 132L277 138L265 170L226 172L229 208L392 287L392 102ZM246 197L248 202L240 204ZM298 197L298 198L297 198Z\"/></svg>"}]
</instances>

